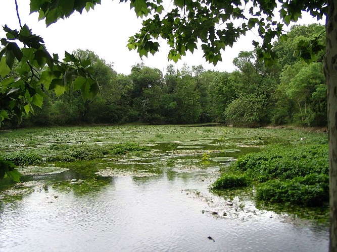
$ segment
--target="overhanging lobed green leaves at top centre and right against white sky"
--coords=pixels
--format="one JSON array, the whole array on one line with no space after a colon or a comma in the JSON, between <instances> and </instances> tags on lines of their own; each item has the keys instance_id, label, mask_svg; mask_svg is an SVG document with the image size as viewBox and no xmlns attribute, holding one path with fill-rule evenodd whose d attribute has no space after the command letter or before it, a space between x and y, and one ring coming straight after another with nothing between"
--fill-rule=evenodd
<instances>
[{"instance_id":1,"label":"overhanging lobed green leaves at top centre and right against white sky","mask_svg":"<svg viewBox=\"0 0 337 252\"><path fill-rule=\"evenodd\" d=\"M278 10L281 21L274 16ZM327 12L325 1L174 1L174 6L161 15L163 8L150 8L157 5L156 1L133 0L131 7L137 6L136 14L152 13L152 17L144 20L139 33L130 37L129 49L136 49L140 56L148 52L155 53L159 49L159 37L167 40L172 48L168 58L175 62L186 54L193 52L197 43L201 42L204 57L216 65L222 60L221 52L226 46L233 46L237 39L247 31L257 29L263 39L262 44L253 41L257 48L258 58L263 59L266 66L271 66L277 58L272 50L272 40L286 40L283 24L289 25L302 17L302 11L310 12L313 17L322 19ZM248 10L248 12L247 12ZM146 15L145 15L146 16ZM238 22L234 22L238 20ZM312 60L322 45L312 40L304 53L304 47L299 55L306 60ZM305 46L304 43L302 43Z\"/></svg>"}]
</instances>

